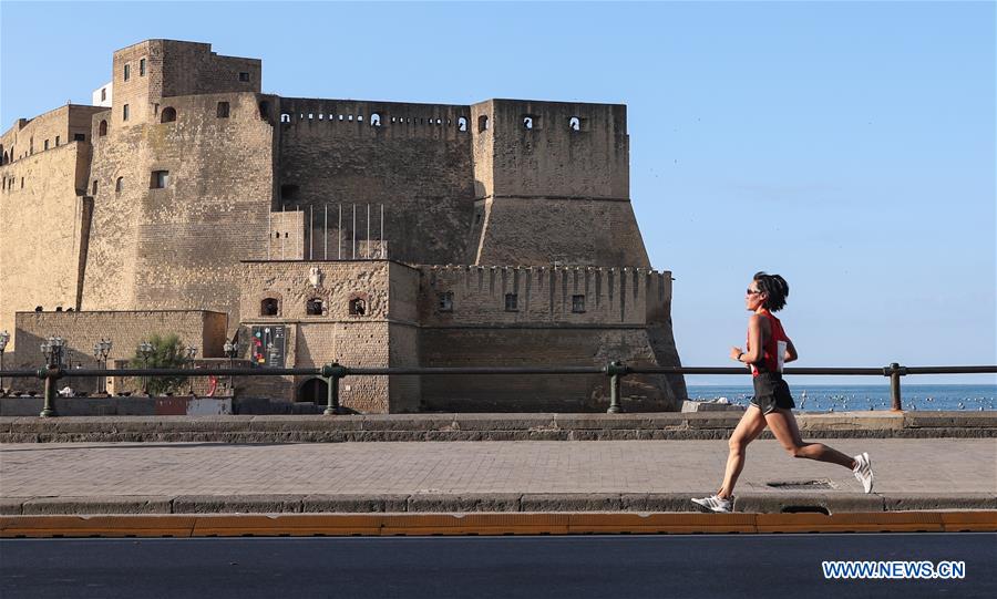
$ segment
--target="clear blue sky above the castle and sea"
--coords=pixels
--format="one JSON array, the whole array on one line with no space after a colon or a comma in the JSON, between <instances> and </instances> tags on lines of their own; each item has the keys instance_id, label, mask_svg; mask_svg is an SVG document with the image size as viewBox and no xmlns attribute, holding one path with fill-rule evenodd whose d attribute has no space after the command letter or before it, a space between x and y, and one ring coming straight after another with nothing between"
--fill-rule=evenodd
<instances>
[{"instance_id":1,"label":"clear blue sky above the castle and sea","mask_svg":"<svg viewBox=\"0 0 997 599\"><path fill-rule=\"evenodd\" d=\"M993 2L3 1L0 117L89 103L112 52L147 38L263 59L264 91L288 96L625 103L630 196L677 279L685 364L732 364L762 269L789 280L799 365L994 364L995 17Z\"/></svg>"}]
</instances>

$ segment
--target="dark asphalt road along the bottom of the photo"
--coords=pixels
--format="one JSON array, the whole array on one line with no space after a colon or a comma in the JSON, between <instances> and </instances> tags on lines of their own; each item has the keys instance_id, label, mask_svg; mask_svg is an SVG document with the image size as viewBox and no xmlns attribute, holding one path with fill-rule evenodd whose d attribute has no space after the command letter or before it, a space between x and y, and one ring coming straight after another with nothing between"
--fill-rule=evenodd
<instances>
[{"instance_id":1,"label":"dark asphalt road along the bottom of the photo","mask_svg":"<svg viewBox=\"0 0 997 599\"><path fill-rule=\"evenodd\" d=\"M822 560L964 560L825 580ZM0 597L997 597L995 534L4 539Z\"/></svg>"}]
</instances>

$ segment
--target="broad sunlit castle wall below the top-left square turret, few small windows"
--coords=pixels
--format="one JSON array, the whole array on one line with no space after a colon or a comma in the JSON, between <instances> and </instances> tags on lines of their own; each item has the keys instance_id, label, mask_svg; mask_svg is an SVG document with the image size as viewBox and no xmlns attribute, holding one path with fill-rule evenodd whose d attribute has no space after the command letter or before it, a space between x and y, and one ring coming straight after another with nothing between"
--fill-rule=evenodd
<instances>
[{"instance_id":1,"label":"broad sunlit castle wall below the top-left square turret, few small windows","mask_svg":"<svg viewBox=\"0 0 997 599\"><path fill-rule=\"evenodd\" d=\"M218 102L229 103L228 117L218 117ZM229 312L235 326L238 261L267 255L273 128L255 94L172 97L168 107L175 122L96 137L83 304L196 306ZM155 171L168 172L164 188L151 188Z\"/></svg>"}]
</instances>

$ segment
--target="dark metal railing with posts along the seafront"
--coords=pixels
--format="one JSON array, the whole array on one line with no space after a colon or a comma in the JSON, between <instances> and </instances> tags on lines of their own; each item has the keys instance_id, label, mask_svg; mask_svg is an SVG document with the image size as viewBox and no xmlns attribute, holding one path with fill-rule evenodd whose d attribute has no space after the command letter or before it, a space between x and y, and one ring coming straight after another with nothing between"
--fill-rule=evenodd
<instances>
[{"instance_id":1,"label":"dark metal railing with posts along the seafront","mask_svg":"<svg viewBox=\"0 0 997 599\"><path fill-rule=\"evenodd\" d=\"M55 384L62 378L84 376L192 376L189 369L62 369L0 370L0 378L38 378L45 382L45 403L42 417L56 416L54 407ZM603 374L609 378L609 409L607 413L623 412L620 405L620 383L629 374L741 374L744 368L713 366L630 366L619 361L605 366L374 366L350 368L338 363L320 368L205 368L197 369L197 376L321 376L328 383L329 392L323 414L342 413L339 404L339 381L347 376L408 376L408 375L458 375L458 374ZM984 366L902 366L894 362L882 368L787 368L785 375L835 375L835 376L888 376L892 410L902 411L901 376L912 374L991 374L997 365Z\"/></svg>"}]
</instances>

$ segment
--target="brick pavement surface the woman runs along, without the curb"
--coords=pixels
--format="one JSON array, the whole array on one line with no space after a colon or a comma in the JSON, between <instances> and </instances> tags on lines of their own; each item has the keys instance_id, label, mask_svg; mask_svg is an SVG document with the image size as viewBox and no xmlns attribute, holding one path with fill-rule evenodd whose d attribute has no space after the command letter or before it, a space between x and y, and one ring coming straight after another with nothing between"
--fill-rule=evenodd
<instances>
[{"instance_id":1,"label":"brick pavement surface the woman runs along, without the curb","mask_svg":"<svg viewBox=\"0 0 997 599\"><path fill-rule=\"evenodd\" d=\"M832 440L867 451L877 493L997 494L997 441ZM0 497L264 494L701 493L715 489L722 441L305 443L51 443L0 446ZM833 464L789 457L775 442L748 452L739 490L830 479L861 490Z\"/></svg>"}]
</instances>

